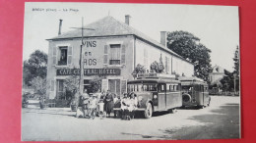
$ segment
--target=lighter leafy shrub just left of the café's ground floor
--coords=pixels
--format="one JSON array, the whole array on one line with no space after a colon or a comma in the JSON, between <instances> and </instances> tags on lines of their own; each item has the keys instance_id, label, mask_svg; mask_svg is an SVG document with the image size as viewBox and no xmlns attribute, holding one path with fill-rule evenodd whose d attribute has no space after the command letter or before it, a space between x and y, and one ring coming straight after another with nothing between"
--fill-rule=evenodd
<instances>
[{"instance_id":1,"label":"lighter leafy shrub just left of the caf\u00e9's ground floor","mask_svg":"<svg viewBox=\"0 0 256 143\"><path fill-rule=\"evenodd\" d=\"M38 94L41 97L46 95L48 85L45 78L39 76L34 77L32 78L32 81L30 81L30 84L35 94Z\"/></svg>"}]
</instances>

